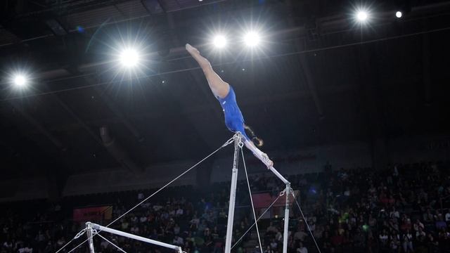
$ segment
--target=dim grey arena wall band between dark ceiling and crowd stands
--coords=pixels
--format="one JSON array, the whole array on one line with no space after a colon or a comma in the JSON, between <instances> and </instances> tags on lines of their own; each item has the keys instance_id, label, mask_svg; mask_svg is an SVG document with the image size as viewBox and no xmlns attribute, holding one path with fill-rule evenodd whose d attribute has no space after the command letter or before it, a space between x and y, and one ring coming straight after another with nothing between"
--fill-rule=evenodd
<instances>
[{"instance_id":1,"label":"dim grey arena wall band between dark ceiling and crowd stands","mask_svg":"<svg viewBox=\"0 0 450 253\"><path fill-rule=\"evenodd\" d=\"M397 138L387 141L387 154L390 163L414 163L423 161L448 160L450 157L450 136L422 136L415 138ZM358 169L371 167L373 155L371 146L364 142L354 142L319 147L290 150L287 152L268 152L273 158L276 169L283 175L309 174L323 171L327 162L333 169ZM229 181L233 165L232 151L228 158L211 162L211 182ZM245 150L245 160L249 174L270 172ZM148 167L141 174L113 168L89 174L69 176L63 188L63 196L105 193L121 190L158 188L171 181L197 161L185 161L160 164ZM242 161L240 179L245 178ZM211 165L204 165L211 166ZM183 176L174 186L195 185L196 173L205 168L197 168ZM0 181L0 202L46 199L49 197L49 180L45 177L13 179Z\"/></svg>"}]
</instances>

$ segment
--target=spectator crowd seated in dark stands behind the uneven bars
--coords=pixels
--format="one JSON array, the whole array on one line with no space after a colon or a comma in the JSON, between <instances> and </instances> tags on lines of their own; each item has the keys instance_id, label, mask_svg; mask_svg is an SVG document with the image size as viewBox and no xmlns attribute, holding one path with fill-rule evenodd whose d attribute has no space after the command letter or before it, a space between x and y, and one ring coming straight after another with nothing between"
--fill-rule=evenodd
<instances>
[{"instance_id":1,"label":"spectator crowd seated in dark stands behind the uneven bars","mask_svg":"<svg viewBox=\"0 0 450 253\"><path fill-rule=\"evenodd\" d=\"M288 252L450 252L450 170L447 162L395 164L383 171L331 169L288 177L300 190L307 223L291 207ZM252 193L278 195L283 184L270 174L250 176ZM281 252L283 217L276 210L259 221L262 250L248 197L247 181L238 183L232 252ZM113 219L154 190L63 197L58 203L30 200L1 204L0 253L56 252L84 228L72 220L75 207L110 205ZM224 252L229 182L207 189L167 188L164 193L124 215L112 228L179 245L185 252ZM259 212L260 213L260 212ZM109 221L97 221L108 223ZM308 224L308 225L307 225ZM136 240L102 233L125 252L169 252ZM242 239L240 239L242 237ZM85 236L60 252L68 253ZM96 237L96 252L118 252ZM87 252L82 245L74 252Z\"/></svg>"}]
</instances>

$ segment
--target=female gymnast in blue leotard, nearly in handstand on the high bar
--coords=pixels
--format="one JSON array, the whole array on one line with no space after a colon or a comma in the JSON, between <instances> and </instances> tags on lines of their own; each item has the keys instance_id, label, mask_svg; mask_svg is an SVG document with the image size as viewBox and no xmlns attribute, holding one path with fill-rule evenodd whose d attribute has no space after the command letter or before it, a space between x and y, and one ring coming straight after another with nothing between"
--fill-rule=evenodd
<instances>
[{"instance_id":1,"label":"female gymnast in blue leotard, nearly in handstand on the high bar","mask_svg":"<svg viewBox=\"0 0 450 253\"><path fill-rule=\"evenodd\" d=\"M219 75L212 70L210 61L201 56L200 51L198 51L197 48L191 46L190 44L186 44L186 50L202 68L212 93L217 100L219 100L220 105L224 110L226 127L232 132L240 131L240 134L243 136L243 143L249 150L252 151L253 155L266 164L267 167L273 167L274 162L269 159L266 153L259 150L259 148L257 148L252 142L252 139L248 138L247 134L245 134L245 129L248 129L250 134L254 135L252 130L244 124L244 117L242 112L240 112L238 104L236 103L236 95L233 91L233 87L224 82L224 80L222 80ZM258 141L259 144L262 144L262 141L257 137L253 137L253 139Z\"/></svg>"}]
</instances>

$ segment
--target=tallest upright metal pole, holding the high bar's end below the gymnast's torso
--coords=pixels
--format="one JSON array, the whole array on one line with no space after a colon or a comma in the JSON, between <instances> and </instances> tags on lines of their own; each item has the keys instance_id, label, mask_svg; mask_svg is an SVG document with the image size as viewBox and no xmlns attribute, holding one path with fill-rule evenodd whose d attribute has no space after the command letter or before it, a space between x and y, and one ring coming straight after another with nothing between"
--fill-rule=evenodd
<instances>
[{"instance_id":1,"label":"tallest upright metal pole, holding the high bar's end below the gymnast's torso","mask_svg":"<svg viewBox=\"0 0 450 253\"><path fill-rule=\"evenodd\" d=\"M238 160L239 148L242 148L242 136L240 132L234 135L234 158L233 158L233 174L231 175L230 187L230 204L228 209L228 223L226 223L226 240L225 253L231 252L231 240L233 238L233 220L234 220L234 206L236 204L236 186L238 183Z\"/></svg>"}]
</instances>

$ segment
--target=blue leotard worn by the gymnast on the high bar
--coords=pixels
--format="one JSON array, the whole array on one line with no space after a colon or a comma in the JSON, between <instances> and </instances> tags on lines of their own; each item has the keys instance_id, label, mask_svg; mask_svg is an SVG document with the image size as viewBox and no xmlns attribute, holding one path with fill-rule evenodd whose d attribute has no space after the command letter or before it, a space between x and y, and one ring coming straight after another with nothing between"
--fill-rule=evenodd
<instances>
[{"instance_id":1,"label":"blue leotard worn by the gymnast on the high bar","mask_svg":"<svg viewBox=\"0 0 450 253\"><path fill-rule=\"evenodd\" d=\"M244 117L236 102L236 94L234 93L233 87L230 86L230 91L225 98L219 98L218 96L216 98L224 110L226 127L232 132L240 131L240 134L250 141L250 138L245 134Z\"/></svg>"}]
</instances>

